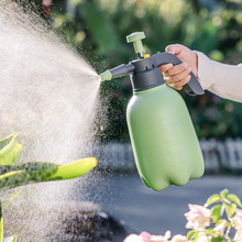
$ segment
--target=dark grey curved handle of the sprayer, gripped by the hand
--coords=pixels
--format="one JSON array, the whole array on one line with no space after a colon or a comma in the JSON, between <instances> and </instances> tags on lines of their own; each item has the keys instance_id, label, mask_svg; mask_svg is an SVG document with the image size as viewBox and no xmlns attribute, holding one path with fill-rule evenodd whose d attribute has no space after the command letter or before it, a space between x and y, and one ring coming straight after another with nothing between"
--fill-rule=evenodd
<instances>
[{"instance_id":1,"label":"dark grey curved handle of the sprayer, gripped by the hand","mask_svg":"<svg viewBox=\"0 0 242 242\"><path fill-rule=\"evenodd\" d=\"M158 52L157 54L152 55L152 57L154 58L156 66L165 65L168 63L172 63L174 66L176 66L182 63L177 56L166 52ZM205 91L202 90L198 79L193 72L190 72L190 76L191 78L189 82L184 86L185 91L190 96L204 95Z\"/></svg>"}]
</instances>

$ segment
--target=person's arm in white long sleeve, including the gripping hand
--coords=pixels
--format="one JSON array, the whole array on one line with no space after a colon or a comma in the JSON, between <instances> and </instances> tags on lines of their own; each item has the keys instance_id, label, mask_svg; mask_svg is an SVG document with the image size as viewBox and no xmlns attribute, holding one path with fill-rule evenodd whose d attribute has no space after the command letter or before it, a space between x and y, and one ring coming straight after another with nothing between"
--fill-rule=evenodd
<instances>
[{"instance_id":1,"label":"person's arm in white long sleeve, including the gripping hand","mask_svg":"<svg viewBox=\"0 0 242 242\"><path fill-rule=\"evenodd\" d=\"M183 64L163 65L161 70L168 86L179 90L189 81L191 69L204 89L234 101L242 102L242 65L226 65L209 59L200 52L193 52L183 45L169 45L166 52L176 55Z\"/></svg>"}]
</instances>

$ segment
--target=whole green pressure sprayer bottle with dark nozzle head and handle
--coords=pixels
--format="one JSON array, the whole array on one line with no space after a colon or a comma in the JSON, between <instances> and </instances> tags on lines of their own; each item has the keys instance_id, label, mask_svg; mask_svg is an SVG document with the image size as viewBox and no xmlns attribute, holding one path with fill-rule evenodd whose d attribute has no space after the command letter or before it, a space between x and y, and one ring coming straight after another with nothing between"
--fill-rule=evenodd
<instances>
[{"instance_id":1,"label":"whole green pressure sprayer bottle with dark nozzle head and handle","mask_svg":"<svg viewBox=\"0 0 242 242\"><path fill-rule=\"evenodd\" d=\"M129 133L141 179L154 190L169 185L185 185L189 179L204 174L200 145L182 96L168 87L158 66L180 59L170 53L143 54L136 32L127 36L133 43L138 59L101 74L102 80L130 75L133 97L127 109ZM204 95L197 78L190 73L184 86L188 95Z\"/></svg>"}]
</instances>

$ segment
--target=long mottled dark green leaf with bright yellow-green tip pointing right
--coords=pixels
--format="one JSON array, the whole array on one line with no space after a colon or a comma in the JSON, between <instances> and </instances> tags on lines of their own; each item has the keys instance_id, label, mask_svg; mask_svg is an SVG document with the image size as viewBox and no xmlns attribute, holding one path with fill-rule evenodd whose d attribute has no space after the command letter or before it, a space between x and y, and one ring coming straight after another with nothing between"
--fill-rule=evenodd
<instances>
[{"instance_id":1,"label":"long mottled dark green leaf with bright yellow-green tip pointing right","mask_svg":"<svg viewBox=\"0 0 242 242\"><path fill-rule=\"evenodd\" d=\"M0 175L0 189L13 188L26 184L70 179L82 176L97 165L94 157L84 158L67 165L56 165L53 163L29 163L26 165L2 168L9 172ZM18 169L22 167L23 169Z\"/></svg>"}]
</instances>

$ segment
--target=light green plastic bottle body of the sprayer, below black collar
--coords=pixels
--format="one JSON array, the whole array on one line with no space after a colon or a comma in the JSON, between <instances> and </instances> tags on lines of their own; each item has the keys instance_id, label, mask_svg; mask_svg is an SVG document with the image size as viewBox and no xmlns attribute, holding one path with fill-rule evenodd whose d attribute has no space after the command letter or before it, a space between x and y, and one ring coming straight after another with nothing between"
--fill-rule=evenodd
<instances>
[{"instance_id":1,"label":"light green plastic bottle body of the sprayer, below black collar","mask_svg":"<svg viewBox=\"0 0 242 242\"><path fill-rule=\"evenodd\" d=\"M200 145L180 95L166 84L134 91L127 109L139 174L162 190L204 174Z\"/></svg>"}]
</instances>

